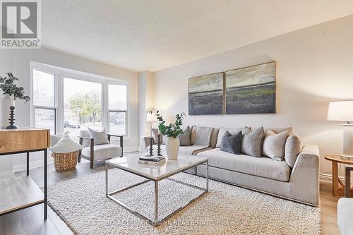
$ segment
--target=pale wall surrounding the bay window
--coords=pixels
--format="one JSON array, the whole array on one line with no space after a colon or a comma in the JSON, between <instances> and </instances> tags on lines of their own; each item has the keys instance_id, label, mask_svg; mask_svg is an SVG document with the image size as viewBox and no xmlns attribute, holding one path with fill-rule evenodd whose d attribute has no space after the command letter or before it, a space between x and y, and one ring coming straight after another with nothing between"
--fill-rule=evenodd
<instances>
[{"instance_id":1,"label":"pale wall surrounding the bay window","mask_svg":"<svg viewBox=\"0 0 353 235\"><path fill-rule=\"evenodd\" d=\"M25 88L25 92L30 92L30 61L50 64L63 68L70 68L76 71L83 71L100 76L117 78L126 80L130 83L131 103L131 139L124 141L126 150L137 150L138 147L138 74L133 71L128 71L124 68L101 64L88 59L83 59L78 56L71 56L52 49L1 49L0 50L0 76L5 76L5 73L12 72L20 79L18 85ZM1 110L4 112L4 110ZM7 111L6 111L7 112ZM16 125L30 125L30 106L29 103L22 104L21 101L16 102ZM25 155L21 157L6 157L8 161L13 161L13 165L20 166L25 163ZM31 157L32 162L37 162L40 158ZM4 158L0 158L0 172L8 171L12 165ZM6 163L6 167L4 167ZM12 167L12 166L11 166ZM12 170L12 169L11 169Z\"/></svg>"}]
</instances>

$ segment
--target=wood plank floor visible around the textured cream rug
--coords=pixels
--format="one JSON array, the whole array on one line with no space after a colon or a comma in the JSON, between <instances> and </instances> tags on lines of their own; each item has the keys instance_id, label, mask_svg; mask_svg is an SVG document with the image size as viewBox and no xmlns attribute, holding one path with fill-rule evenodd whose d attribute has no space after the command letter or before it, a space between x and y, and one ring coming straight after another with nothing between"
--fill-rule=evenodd
<instances>
[{"instance_id":1,"label":"wood plank floor visible around the textured cream rug","mask_svg":"<svg viewBox=\"0 0 353 235\"><path fill-rule=\"evenodd\" d=\"M128 155L128 153L126 153ZM90 162L82 159L78 166L73 171L56 172L54 165L48 166L48 185L60 181L66 181L78 176L85 176L98 171L104 170L104 163L98 162L94 169L90 169ZM42 167L31 169L30 175L38 186L43 186ZM23 176L25 173L18 173L16 176ZM332 195L331 183L321 182L321 222L323 235L340 234L337 227L337 200L340 197ZM60 219L56 213L48 207L48 219L43 221L43 207L37 205L25 210L13 212L0 217L0 234L49 234L49 235L66 235L73 234L73 231Z\"/></svg>"}]
</instances>

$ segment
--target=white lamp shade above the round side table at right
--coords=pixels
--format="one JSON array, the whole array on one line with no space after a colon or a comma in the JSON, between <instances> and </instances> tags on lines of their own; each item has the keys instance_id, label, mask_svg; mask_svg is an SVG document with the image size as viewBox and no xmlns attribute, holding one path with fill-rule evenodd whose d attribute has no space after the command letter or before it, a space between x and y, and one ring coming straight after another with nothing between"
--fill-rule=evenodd
<instances>
[{"instance_id":1,"label":"white lamp shade above the round side table at right","mask_svg":"<svg viewBox=\"0 0 353 235\"><path fill-rule=\"evenodd\" d=\"M328 121L353 121L353 100L328 103Z\"/></svg>"}]
</instances>

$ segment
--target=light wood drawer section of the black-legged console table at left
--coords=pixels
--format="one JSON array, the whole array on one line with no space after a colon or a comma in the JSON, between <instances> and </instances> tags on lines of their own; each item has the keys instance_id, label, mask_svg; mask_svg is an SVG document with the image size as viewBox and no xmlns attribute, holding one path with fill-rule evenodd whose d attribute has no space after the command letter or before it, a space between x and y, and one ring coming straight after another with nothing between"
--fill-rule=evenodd
<instances>
[{"instance_id":1,"label":"light wood drawer section of the black-legged console table at left","mask_svg":"<svg viewBox=\"0 0 353 235\"><path fill-rule=\"evenodd\" d=\"M0 153L40 150L47 147L50 147L49 130L37 128L0 129Z\"/></svg>"}]
</instances>

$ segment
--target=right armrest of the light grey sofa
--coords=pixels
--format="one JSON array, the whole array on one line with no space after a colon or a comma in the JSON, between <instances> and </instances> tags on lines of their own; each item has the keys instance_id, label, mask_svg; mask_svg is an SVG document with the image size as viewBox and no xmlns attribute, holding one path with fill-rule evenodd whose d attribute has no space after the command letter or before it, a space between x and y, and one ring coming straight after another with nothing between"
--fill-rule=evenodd
<instances>
[{"instance_id":1,"label":"right armrest of the light grey sofa","mask_svg":"<svg viewBox=\"0 0 353 235\"><path fill-rule=\"evenodd\" d=\"M319 204L319 159L318 145L304 145L299 153L289 179L290 191L295 198Z\"/></svg>"}]
</instances>

